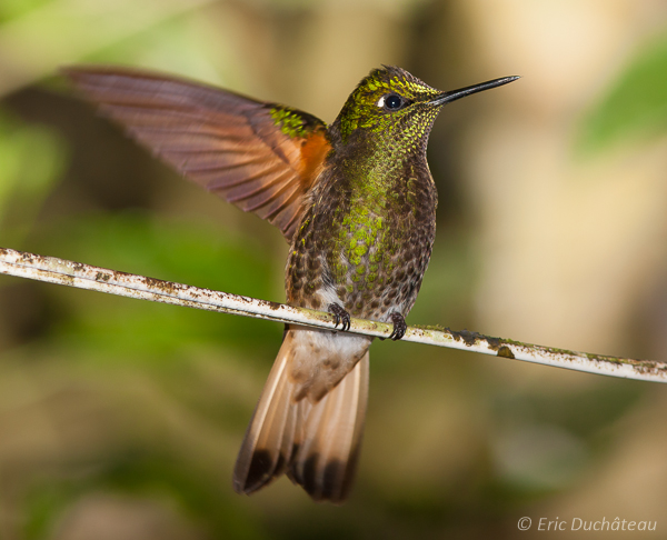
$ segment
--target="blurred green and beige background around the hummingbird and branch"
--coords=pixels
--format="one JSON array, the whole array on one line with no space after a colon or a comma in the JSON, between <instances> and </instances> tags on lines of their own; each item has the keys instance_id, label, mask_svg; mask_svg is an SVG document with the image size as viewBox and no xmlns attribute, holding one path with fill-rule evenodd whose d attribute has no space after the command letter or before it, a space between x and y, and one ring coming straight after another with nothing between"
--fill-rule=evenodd
<instances>
[{"instance_id":1,"label":"blurred green and beige background around the hummingbird and branch","mask_svg":"<svg viewBox=\"0 0 667 540\"><path fill-rule=\"evenodd\" d=\"M436 122L408 322L667 359L664 1L2 0L0 246L281 301L281 236L78 100L56 74L77 62L326 121L380 63L440 89L522 76ZM663 386L409 343L372 347L346 506L286 479L236 496L281 331L0 277L0 538L512 538L524 516L664 534Z\"/></svg>"}]
</instances>

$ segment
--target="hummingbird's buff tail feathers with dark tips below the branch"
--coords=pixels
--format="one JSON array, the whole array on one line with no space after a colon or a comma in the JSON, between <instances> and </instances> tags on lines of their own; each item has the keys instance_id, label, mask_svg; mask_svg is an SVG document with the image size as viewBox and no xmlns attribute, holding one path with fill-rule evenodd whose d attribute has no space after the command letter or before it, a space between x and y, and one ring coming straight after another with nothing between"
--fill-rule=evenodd
<instances>
[{"instance_id":1,"label":"hummingbird's buff tail feathers with dark tips below the branch","mask_svg":"<svg viewBox=\"0 0 667 540\"><path fill-rule=\"evenodd\" d=\"M368 401L368 351L316 403L295 401L289 362L293 334L287 332L233 472L233 489L252 493L283 472L315 500L342 502L352 483Z\"/></svg>"}]
</instances>

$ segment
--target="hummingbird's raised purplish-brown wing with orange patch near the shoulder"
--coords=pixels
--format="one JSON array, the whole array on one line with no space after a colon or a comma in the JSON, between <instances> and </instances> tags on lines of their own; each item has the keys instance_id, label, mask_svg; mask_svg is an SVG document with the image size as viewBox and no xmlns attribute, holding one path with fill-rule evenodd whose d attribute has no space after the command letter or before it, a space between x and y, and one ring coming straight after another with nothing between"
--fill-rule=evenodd
<instances>
[{"instance_id":1,"label":"hummingbird's raised purplish-brown wing with orange patch near the shoulder","mask_svg":"<svg viewBox=\"0 0 667 540\"><path fill-rule=\"evenodd\" d=\"M330 150L326 124L276 103L158 73L73 67L63 73L103 113L190 180L291 240Z\"/></svg>"}]
</instances>

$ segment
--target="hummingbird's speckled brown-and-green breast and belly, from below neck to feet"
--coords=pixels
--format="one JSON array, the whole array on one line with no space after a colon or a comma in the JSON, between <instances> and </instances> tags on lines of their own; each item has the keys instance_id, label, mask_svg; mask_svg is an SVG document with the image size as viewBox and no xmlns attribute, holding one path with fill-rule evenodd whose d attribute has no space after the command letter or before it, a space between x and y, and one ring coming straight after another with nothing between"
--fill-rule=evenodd
<instances>
[{"instance_id":1,"label":"hummingbird's speckled brown-and-green breast and belly, from below neck to feet","mask_svg":"<svg viewBox=\"0 0 667 540\"><path fill-rule=\"evenodd\" d=\"M437 194L425 172L379 193L344 181L320 186L290 248L288 302L320 310L338 302L352 317L376 320L391 311L405 317L435 238Z\"/></svg>"}]
</instances>

